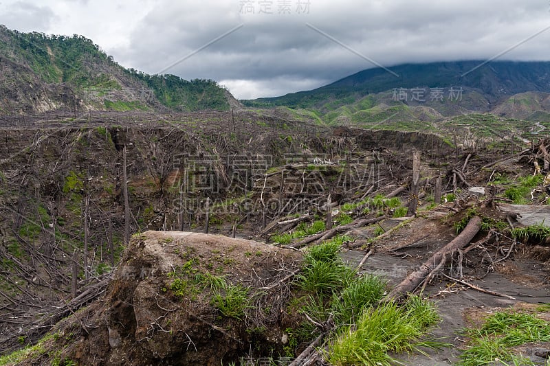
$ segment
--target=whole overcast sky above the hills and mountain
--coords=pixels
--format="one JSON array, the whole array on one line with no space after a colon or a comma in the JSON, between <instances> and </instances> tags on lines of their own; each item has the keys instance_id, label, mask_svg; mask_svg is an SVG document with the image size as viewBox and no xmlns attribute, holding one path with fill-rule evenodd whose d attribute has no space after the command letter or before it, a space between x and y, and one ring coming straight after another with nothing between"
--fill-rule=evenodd
<instances>
[{"instance_id":1,"label":"whole overcast sky above the hills and mountain","mask_svg":"<svg viewBox=\"0 0 550 366\"><path fill-rule=\"evenodd\" d=\"M81 34L124 67L238 99L406 62L550 60L550 0L0 0L0 24Z\"/></svg>"}]
</instances>

